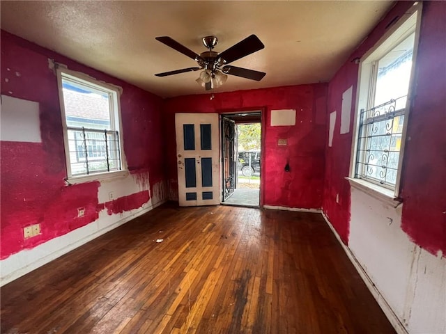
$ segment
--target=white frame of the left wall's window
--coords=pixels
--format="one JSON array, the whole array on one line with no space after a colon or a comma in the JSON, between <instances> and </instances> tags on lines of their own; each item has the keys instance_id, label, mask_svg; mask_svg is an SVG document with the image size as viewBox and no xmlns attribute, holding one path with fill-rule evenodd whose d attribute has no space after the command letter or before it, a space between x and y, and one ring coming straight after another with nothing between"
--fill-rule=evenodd
<instances>
[{"instance_id":1,"label":"white frame of the left wall's window","mask_svg":"<svg viewBox=\"0 0 446 334\"><path fill-rule=\"evenodd\" d=\"M97 79L90 77L81 72L75 72L72 70L68 70L65 65L61 65L58 63L54 63L54 67L56 68L56 76L57 76L57 84L59 87L59 103L61 106L61 117L62 117L62 127L63 127L63 143L65 148L65 158L66 158L66 171L67 177L66 182L68 184L76 184L82 182L91 182L93 180L102 180L108 179L110 177L121 177L128 174L128 166L127 161L125 159L125 154L123 151L123 127L122 127L122 118L121 118L121 93L122 88L118 86L114 86L112 84L107 84L103 81L98 81ZM114 131L118 131L119 138L119 154L121 159L121 169L120 170L111 170L101 173L91 173L88 175L72 175L71 173L71 162L70 162L70 148L68 145L68 126L66 122L66 111L65 111L65 103L63 101L63 86L62 79L69 79L77 82L78 84L84 84L89 86L89 88L98 89L101 92L106 92L109 94L109 100L112 101L112 105L110 106L110 122L112 124L112 129Z\"/></svg>"}]
</instances>

